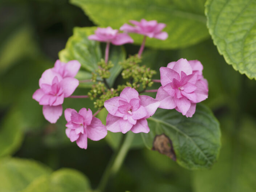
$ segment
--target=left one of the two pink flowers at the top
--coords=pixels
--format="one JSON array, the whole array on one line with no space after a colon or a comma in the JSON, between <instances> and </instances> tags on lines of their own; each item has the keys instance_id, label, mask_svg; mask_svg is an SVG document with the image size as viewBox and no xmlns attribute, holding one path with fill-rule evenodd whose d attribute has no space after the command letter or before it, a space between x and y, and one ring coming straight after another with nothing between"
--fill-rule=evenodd
<instances>
[{"instance_id":1,"label":"left one of the two pink flowers at the top","mask_svg":"<svg viewBox=\"0 0 256 192\"><path fill-rule=\"evenodd\" d=\"M123 45L126 43L133 43L133 39L126 33L118 33L117 29L112 29L110 26L107 28L97 28L95 34L88 37L90 40L111 42L114 45Z\"/></svg>"}]
</instances>

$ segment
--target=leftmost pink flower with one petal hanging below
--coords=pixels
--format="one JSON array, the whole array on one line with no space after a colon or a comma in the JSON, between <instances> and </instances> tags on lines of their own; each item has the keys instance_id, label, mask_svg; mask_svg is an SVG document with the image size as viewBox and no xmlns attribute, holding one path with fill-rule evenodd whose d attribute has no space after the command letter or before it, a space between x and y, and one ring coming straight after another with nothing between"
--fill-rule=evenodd
<instances>
[{"instance_id":1,"label":"leftmost pink flower with one petal hanging below","mask_svg":"<svg viewBox=\"0 0 256 192\"><path fill-rule=\"evenodd\" d=\"M32 98L43 105L44 117L50 123L57 122L62 115L64 98L72 95L79 84L73 78L79 70L78 66L80 68L80 64L74 61L64 64L57 60L54 68L45 70L39 79L40 89L34 92Z\"/></svg>"}]
</instances>

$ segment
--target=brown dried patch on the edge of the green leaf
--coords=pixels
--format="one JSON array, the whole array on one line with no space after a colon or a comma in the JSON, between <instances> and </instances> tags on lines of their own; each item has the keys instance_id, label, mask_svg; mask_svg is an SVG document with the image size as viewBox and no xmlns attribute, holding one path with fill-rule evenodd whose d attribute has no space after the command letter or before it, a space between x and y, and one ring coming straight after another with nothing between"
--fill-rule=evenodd
<instances>
[{"instance_id":1,"label":"brown dried patch on the edge of the green leaf","mask_svg":"<svg viewBox=\"0 0 256 192\"><path fill-rule=\"evenodd\" d=\"M155 136L152 150L156 150L176 161L176 155L173 150L171 139L169 139L165 134Z\"/></svg>"}]
</instances>

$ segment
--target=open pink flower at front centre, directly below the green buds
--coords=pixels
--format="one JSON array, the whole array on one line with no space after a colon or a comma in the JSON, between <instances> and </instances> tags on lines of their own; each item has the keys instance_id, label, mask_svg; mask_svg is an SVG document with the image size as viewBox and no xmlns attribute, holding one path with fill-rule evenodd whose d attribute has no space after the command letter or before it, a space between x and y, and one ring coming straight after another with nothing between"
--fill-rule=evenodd
<instances>
[{"instance_id":1,"label":"open pink flower at front centre, directly below the green buds","mask_svg":"<svg viewBox=\"0 0 256 192\"><path fill-rule=\"evenodd\" d=\"M147 118L155 113L159 101L146 95L139 95L138 91L126 87L120 97L113 97L105 101L109 114L106 119L107 130L126 133L149 132Z\"/></svg>"}]
</instances>

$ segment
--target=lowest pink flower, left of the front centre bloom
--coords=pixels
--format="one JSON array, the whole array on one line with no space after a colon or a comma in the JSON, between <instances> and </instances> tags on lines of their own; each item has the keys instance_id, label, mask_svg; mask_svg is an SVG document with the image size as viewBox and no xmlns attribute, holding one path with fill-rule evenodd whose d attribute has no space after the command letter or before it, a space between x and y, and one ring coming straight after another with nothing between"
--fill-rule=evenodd
<instances>
[{"instance_id":1,"label":"lowest pink flower, left of the front centre bloom","mask_svg":"<svg viewBox=\"0 0 256 192\"><path fill-rule=\"evenodd\" d=\"M92 111L85 108L77 113L74 109L64 111L66 124L66 135L71 142L76 141L78 147L87 148L87 138L98 141L107 135L106 127L96 117L93 117Z\"/></svg>"}]
</instances>

